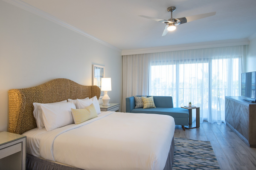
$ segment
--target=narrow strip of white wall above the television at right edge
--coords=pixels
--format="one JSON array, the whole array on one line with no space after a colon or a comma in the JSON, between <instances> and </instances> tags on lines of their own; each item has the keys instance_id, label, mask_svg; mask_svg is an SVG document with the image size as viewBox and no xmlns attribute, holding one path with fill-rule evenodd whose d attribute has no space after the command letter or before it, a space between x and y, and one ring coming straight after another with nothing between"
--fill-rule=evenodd
<instances>
[{"instance_id":1,"label":"narrow strip of white wall above the television at right edge","mask_svg":"<svg viewBox=\"0 0 256 170\"><path fill-rule=\"evenodd\" d=\"M250 41L245 72L256 71L256 38Z\"/></svg>"}]
</instances>

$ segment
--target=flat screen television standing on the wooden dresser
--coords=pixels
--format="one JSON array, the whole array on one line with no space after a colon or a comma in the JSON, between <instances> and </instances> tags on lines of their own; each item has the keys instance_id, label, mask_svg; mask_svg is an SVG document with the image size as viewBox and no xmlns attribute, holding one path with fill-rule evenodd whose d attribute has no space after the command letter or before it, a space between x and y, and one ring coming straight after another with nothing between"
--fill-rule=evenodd
<instances>
[{"instance_id":1,"label":"flat screen television standing on the wooden dresser","mask_svg":"<svg viewBox=\"0 0 256 170\"><path fill-rule=\"evenodd\" d=\"M244 100L249 102L256 102L255 86L256 71L242 73L241 96L247 97L247 99Z\"/></svg>"}]
</instances>

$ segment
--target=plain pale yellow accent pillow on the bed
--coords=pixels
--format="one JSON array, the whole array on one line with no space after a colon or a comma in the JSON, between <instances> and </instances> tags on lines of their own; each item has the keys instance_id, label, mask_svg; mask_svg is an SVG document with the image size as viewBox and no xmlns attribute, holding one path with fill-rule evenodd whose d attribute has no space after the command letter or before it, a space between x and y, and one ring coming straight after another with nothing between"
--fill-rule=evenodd
<instances>
[{"instance_id":1,"label":"plain pale yellow accent pillow on the bed","mask_svg":"<svg viewBox=\"0 0 256 170\"><path fill-rule=\"evenodd\" d=\"M93 104L84 109L71 108L71 112L76 125L87 120L93 119L95 117L98 117L98 114Z\"/></svg>"}]
</instances>

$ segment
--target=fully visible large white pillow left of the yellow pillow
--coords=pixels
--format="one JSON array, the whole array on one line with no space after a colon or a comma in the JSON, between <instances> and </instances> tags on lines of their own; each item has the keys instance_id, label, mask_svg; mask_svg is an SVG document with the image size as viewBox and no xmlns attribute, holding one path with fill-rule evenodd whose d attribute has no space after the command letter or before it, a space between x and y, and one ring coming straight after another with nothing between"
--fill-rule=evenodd
<instances>
[{"instance_id":1,"label":"fully visible large white pillow left of the yellow pillow","mask_svg":"<svg viewBox=\"0 0 256 170\"><path fill-rule=\"evenodd\" d=\"M71 108L76 109L72 102L55 105L41 104L43 111L44 126L47 131L57 129L74 123Z\"/></svg>"}]
</instances>

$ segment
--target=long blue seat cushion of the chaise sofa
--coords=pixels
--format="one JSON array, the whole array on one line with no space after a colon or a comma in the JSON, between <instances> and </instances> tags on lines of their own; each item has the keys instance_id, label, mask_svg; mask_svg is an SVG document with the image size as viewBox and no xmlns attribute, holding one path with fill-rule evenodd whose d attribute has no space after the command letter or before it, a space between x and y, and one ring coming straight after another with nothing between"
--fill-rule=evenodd
<instances>
[{"instance_id":1,"label":"long blue seat cushion of the chaise sofa","mask_svg":"<svg viewBox=\"0 0 256 170\"><path fill-rule=\"evenodd\" d=\"M188 118L189 110L183 108L137 108L133 109L131 113L151 113L151 114L165 114L172 117Z\"/></svg>"}]
</instances>

